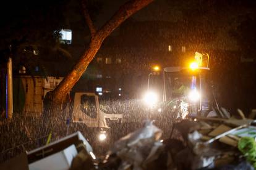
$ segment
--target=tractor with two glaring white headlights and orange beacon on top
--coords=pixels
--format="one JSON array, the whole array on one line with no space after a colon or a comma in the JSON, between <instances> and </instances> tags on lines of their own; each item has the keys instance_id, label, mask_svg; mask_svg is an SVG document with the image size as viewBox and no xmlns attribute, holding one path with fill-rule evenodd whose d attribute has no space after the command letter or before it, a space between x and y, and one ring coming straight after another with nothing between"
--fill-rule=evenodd
<instances>
[{"instance_id":1,"label":"tractor with two glaring white headlights and orange beacon on top","mask_svg":"<svg viewBox=\"0 0 256 170\"><path fill-rule=\"evenodd\" d=\"M182 119L186 116L207 114L210 111L207 89L207 75L210 70L208 65L209 55L195 52L195 59L189 67L166 67L163 68L162 74L154 73L161 76L158 94L149 88L150 76L148 76L145 102L151 109L155 108L153 111L155 114L171 112L176 118Z\"/></svg>"}]
</instances>

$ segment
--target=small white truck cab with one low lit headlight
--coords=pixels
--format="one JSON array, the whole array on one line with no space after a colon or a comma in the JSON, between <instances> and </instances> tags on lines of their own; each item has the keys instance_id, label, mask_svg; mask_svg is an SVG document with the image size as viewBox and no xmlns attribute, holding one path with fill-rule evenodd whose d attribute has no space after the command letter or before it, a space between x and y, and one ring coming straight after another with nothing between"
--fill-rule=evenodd
<instances>
[{"instance_id":1,"label":"small white truck cab with one low lit headlight","mask_svg":"<svg viewBox=\"0 0 256 170\"><path fill-rule=\"evenodd\" d=\"M71 126L81 131L92 146L111 143L112 123L122 124L122 114L105 113L99 97L94 92L75 92L71 102ZM111 111L110 111L111 112ZM104 150L99 152L105 152Z\"/></svg>"}]
</instances>

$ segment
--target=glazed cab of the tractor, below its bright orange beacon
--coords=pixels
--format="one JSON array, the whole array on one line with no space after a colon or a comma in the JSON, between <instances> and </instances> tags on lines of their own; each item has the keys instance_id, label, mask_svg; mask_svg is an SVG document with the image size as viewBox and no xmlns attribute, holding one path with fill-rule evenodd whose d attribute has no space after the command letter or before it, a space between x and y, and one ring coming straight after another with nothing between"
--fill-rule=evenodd
<instances>
[{"instance_id":1,"label":"glazed cab of the tractor, below its bright orange beacon","mask_svg":"<svg viewBox=\"0 0 256 170\"><path fill-rule=\"evenodd\" d=\"M179 109L177 116L185 118L208 112L208 70L207 67L198 67L194 71L187 67L164 68L163 100L172 108Z\"/></svg>"}]
</instances>

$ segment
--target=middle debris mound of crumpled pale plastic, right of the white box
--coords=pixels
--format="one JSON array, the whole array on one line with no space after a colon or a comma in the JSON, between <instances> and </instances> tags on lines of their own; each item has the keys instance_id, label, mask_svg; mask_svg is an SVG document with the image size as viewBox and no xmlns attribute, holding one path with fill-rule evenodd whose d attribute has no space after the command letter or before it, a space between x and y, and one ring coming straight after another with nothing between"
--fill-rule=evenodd
<instances>
[{"instance_id":1,"label":"middle debris mound of crumpled pale plastic, right of the white box","mask_svg":"<svg viewBox=\"0 0 256 170\"><path fill-rule=\"evenodd\" d=\"M164 150L162 131L146 121L144 127L117 140L100 169L149 169Z\"/></svg>"}]
</instances>

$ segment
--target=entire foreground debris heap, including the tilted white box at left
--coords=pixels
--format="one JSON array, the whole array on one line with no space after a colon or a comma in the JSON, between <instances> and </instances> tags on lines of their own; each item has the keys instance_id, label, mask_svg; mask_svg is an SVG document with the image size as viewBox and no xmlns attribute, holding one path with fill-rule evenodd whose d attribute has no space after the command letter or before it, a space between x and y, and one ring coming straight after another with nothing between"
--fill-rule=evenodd
<instances>
[{"instance_id":1,"label":"entire foreground debris heap, including the tilted white box at left","mask_svg":"<svg viewBox=\"0 0 256 170\"><path fill-rule=\"evenodd\" d=\"M96 158L77 132L28 152L24 163L29 169L254 169L255 123L246 118L184 119L163 140L161 129L145 121L117 140L105 158ZM0 169L9 167L6 164Z\"/></svg>"}]
</instances>

